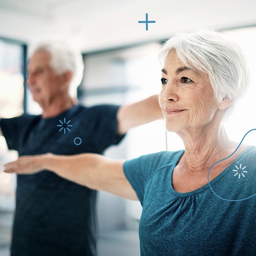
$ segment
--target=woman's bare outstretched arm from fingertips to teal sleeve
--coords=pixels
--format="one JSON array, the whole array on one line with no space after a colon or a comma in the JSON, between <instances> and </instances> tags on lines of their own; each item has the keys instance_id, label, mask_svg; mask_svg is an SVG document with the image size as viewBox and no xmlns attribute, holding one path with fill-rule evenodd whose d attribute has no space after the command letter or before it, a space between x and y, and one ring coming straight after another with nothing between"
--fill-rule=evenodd
<instances>
[{"instance_id":1,"label":"woman's bare outstretched arm from fingertips to teal sleeve","mask_svg":"<svg viewBox=\"0 0 256 256\"><path fill-rule=\"evenodd\" d=\"M54 155L51 153L21 156L5 165L4 172L34 174L49 170L69 181L90 189L138 200L137 195L123 172L123 160L109 160L97 154Z\"/></svg>"}]
</instances>

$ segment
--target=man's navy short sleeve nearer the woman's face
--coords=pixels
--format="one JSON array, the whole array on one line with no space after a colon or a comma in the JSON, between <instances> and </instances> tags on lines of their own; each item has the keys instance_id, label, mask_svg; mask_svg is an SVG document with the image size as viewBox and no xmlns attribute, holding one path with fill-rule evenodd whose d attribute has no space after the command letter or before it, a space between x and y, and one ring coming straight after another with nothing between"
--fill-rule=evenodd
<instances>
[{"instance_id":1,"label":"man's navy short sleeve nearer the woman's face","mask_svg":"<svg viewBox=\"0 0 256 256\"><path fill-rule=\"evenodd\" d=\"M117 111L120 106L99 105L91 108L91 115L96 119L93 142L97 152L101 153L110 145L118 144L124 135L117 132Z\"/></svg>"}]
</instances>

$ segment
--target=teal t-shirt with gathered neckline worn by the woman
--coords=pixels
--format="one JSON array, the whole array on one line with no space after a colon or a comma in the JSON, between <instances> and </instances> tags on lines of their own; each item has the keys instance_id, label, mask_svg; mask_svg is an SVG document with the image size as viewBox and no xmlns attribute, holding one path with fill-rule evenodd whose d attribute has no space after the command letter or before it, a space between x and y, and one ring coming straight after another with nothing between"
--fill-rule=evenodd
<instances>
[{"instance_id":1,"label":"teal t-shirt with gathered neckline worn by the woman","mask_svg":"<svg viewBox=\"0 0 256 256\"><path fill-rule=\"evenodd\" d=\"M129 160L124 173L143 207L141 256L256 256L256 196L230 202L209 184L188 193L172 186L184 150ZM256 147L246 148L210 182L238 200L256 193Z\"/></svg>"}]
</instances>

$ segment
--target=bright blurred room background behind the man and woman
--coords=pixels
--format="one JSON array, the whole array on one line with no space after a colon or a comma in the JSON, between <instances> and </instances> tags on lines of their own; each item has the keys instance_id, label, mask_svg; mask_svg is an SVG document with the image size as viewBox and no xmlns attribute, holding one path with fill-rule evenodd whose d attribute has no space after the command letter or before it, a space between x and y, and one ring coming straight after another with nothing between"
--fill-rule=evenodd
<instances>
[{"instance_id":1,"label":"bright blurred room background behind the man and woman","mask_svg":"<svg viewBox=\"0 0 256 256\"><path fill-rule=\"evenodd\" d=\"M154 24L138 24L138 20ZM28 47L47 38L68 40L83 54L84 77L78 88L81 104L128 104L161 88L158 51L176 32L210 27L235 40L244 50L251 71L251 88L226 124L230 139L240 141L255 119L256 1L253 0L0 0L0 116L40 114L26 89ZM256 144L250 135L247 143ZM182 141L167 133L163 121L133 128L111 158L135 158L178 150ZM15 208L15 175L1 173L2 164L17 157L0 137L0 256L8 255ZM98 194L99 255L139 255L139 202L105 192ZM133 249L132 249L133 248Z\"/></svg>"}]
</instances>

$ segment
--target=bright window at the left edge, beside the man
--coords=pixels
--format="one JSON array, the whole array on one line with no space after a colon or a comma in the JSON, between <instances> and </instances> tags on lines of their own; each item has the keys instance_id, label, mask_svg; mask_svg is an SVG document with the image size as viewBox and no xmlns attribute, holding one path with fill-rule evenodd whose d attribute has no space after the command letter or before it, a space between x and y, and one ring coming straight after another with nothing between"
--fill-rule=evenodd
<instances>
[{"instance_id":1,"label":"bright window at the left edge, beside the man","mask_svg":"<svg viewBox=\"0 0 256 256\"><path fill-rule=\"evenodd\" d=\"M24 47L0 40L0 117L10 118L23 113ZM6 141L0 136L0 166L15 160L17 153L8 151ZM2 173L0 169L0 210L14 209L15 175Z\"/></svg>"}]
</instances>

